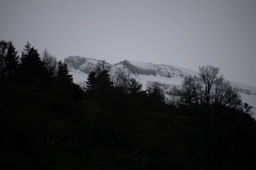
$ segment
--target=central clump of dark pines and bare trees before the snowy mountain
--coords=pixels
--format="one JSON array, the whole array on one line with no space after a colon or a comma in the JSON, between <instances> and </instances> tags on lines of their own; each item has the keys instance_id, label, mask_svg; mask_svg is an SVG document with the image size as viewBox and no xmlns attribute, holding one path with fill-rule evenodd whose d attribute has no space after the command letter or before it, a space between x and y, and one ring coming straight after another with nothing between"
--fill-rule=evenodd
<instances>
[{"instance_id":1,"label":"central clump of dark pines and bare trees before the snowy mountain","mask_svg":"<svg viewBox=\"0 0 256 170\"><path fill-rule=\"evenodd\" d=\"M85 94L89 98L98 99L101 108L114 112L150 111L160 112L165 109L165 97L159 87L142 90L142 85L126 73L117 69L110 77L106 62L101 61L86 81Z\"/></svg>"}]
</instances>

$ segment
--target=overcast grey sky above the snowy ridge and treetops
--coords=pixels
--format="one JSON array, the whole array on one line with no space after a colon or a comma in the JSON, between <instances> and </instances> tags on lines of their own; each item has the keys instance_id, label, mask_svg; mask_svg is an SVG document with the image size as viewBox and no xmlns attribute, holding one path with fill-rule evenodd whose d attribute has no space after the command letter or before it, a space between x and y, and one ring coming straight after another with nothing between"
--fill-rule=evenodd
<instances>
[{"instance_id":1,"label":"overcast grey sky above the snowy ridge and treetops","mask_svg":"<svg viewBox=\"0 0 256 170\"><path fill-rule=\"evenodd\" d=\"M255 0L0 0L0 38L59 59L214 65L256 87Z\"/></svg>"}]
</instances>

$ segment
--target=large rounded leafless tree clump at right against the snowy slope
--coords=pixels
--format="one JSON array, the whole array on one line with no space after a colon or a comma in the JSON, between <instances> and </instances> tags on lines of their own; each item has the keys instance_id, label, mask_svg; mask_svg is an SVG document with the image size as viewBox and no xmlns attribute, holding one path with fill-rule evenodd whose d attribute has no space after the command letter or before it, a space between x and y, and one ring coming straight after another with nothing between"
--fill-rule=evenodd
<instances>
[{"instance_id":1,"label":"large rounded leafless tree clump at right against the snowy slope","mask_svg":"<svg viewBox=\"0 0 256 170\"><path fill-rule=\"evenodd\" d=\"M241 96L237 89L232 88L229 81L219 76L218 67L207 65L199 67L199 78L185 77L181 84L181 101L186 105L194 103L225 105L229 108L241 104Z\"/></svg>"}]
</instances>

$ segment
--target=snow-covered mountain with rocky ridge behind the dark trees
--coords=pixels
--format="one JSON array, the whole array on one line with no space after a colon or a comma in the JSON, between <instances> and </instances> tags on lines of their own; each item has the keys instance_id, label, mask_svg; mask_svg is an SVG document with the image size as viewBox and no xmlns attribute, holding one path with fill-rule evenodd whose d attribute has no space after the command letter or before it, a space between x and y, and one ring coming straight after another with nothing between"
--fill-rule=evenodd
<instances>
[{"instance_id":1,"label":"snow-covered mountain with rocky ridge behind the dark trees","mask_svg":"<svg viewBox=\"0 0 256 170\"><path fill-rule=\"evenodd\" d=\"M71 75L73 75L74 83L84 84L89 73L94 71L102 61L90 57L69 56L65 58L64 62L69 67ZM110 68L111 77L114 77L117 71L123 70L137 79L143 85L143 89L147 89L148 85L152 83L158 83L166 95L173 87L179 87L186 75L197 75L195 71L173 65L154 65L148 62L131 60L123 60L113 65L106 63L106 66ZM231 82L231 84L240 91L243 102L252 105L252 111L256 113L256 87L236 82ZM256 118L256 114L252 116Z\"/></svg>"}]
</instances>

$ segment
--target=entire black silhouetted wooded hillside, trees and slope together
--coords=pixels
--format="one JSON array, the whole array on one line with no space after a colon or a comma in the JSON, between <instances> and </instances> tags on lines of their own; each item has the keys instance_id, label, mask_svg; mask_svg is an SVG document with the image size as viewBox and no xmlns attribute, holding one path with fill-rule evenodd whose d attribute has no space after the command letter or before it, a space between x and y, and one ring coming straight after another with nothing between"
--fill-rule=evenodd
<instances>
[{"instance_id":1,"label":"entire black silhouetted wooded hillside, trees and slope together","mask_svg":"<svg viewBox=\"0 0 256 170\"><path fill-rule=\"evenodd\" d=\"M100 62L81 87L65 63L0 42L1 169L255 169L251 106L212 65L175 100Z\"/></svg>"}]
</instances>

